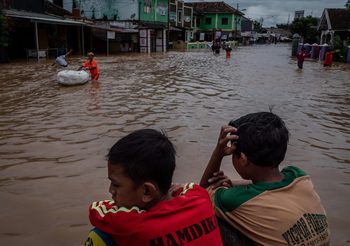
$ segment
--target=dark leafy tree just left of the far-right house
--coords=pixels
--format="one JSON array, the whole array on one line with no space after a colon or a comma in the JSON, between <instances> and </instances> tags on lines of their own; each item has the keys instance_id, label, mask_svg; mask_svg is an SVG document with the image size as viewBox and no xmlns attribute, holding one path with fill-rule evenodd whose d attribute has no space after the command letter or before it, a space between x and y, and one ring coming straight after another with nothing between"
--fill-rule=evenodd
<instances>
[{"instance_id":1,"label":"dark leafy tree just left of the far-right house","mask_svg":"<svg viewBox=\"0 0 350 246\"><path fill-rule=\"evenodd\" d=\"M290 25L292 34L298 33L304 38L304 43L317 43L319 35L317 32L317 25L319 18L307 16L295 19Z\"/></svg>"}]
</instances>

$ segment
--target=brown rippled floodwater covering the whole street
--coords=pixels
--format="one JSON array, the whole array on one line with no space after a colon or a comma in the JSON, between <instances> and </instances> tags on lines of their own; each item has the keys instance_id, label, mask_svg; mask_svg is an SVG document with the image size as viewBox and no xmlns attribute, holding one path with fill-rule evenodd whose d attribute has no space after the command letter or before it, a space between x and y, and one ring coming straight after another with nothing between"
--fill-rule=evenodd
<instances>
[{"instance_id":1,"label":"brown rippled floodwater covering the whole street","mask_svg":"<svg viewBox=\"0 0 350 246\"><path fill-rule=\"evenodd\" d=\"M198 182L220 126L256 111L286 122L283 166L307 171L328 212L332 245L350 245L350 67L306 61L284 44L222 52L97 55L98 83L56 83L52 60L1 64L1 245L82 245L88 206L108 194L105 155L140 128L177 148L175 182ZM80 57L70 57L76 69ZM230 158L223 169L234 179Z\"/></svg>"}]
</instances>

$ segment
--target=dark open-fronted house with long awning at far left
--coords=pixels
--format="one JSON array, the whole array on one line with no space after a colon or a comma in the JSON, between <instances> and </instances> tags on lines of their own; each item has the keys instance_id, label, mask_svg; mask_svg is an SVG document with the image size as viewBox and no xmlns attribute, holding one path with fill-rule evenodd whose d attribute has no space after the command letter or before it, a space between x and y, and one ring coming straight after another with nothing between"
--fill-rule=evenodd
<instances>
[{"instance_id":1,"label":"dark open-fronted house with long awning at far left","mask_svg":"<svg viewBox=\"0 0 350 246\"><path fill-rule=\"evenodd\" d=\"M70 12L45 0L3 1L3 13L11 23L8 58L47 58L66 52L83 50L83 22L67 19ZM71 34L72 33L72 34ZM69 35L70 34L70 35Z\"/></svg>"}]
</instances>

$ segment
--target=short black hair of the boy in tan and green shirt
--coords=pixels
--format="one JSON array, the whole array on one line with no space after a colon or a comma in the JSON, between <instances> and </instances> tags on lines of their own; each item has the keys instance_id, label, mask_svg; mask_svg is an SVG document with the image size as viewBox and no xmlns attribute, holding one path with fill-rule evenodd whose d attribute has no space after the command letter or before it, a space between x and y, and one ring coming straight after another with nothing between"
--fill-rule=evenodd
<instances>
[{"instance_id":1,"label":"short black hair of the boy in tan and green shirt","mask_svg":"<svg viewBox=\"0 0 350 246\"><path fill-rule=\"evenodd\" d=\"M257 166L277 167L284 159L289 132L283 120L270 112L247 114L232 120L239 136L234 154L243 152Z\"/></svg>"}]
</instances>

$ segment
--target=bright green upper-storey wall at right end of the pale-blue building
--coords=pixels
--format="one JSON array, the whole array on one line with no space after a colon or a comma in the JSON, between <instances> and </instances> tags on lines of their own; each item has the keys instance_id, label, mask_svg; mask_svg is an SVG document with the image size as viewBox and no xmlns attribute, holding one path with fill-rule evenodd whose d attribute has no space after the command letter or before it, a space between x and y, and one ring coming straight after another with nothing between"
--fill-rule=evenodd
<instances>
[{"instance_id":1,"label":"bright green upper-storey wall at right end of the pale-blue building","mask_svg":"<svg viewBox=\"0 0 350 246\"><path fill-rule=\"evenodd\" d=\"M139 15L141 21L168 23L167 0L140 0Z\"/></svg>"}]
</instances>

